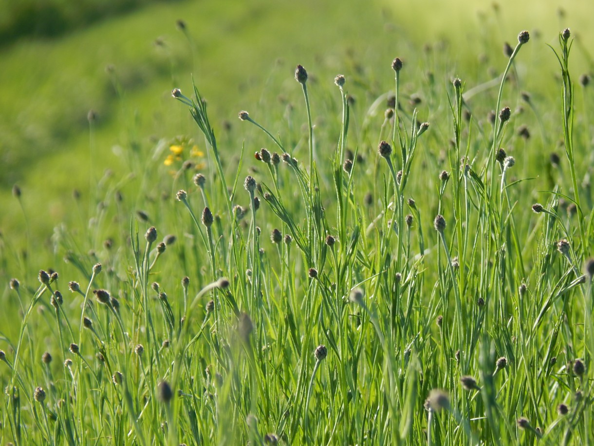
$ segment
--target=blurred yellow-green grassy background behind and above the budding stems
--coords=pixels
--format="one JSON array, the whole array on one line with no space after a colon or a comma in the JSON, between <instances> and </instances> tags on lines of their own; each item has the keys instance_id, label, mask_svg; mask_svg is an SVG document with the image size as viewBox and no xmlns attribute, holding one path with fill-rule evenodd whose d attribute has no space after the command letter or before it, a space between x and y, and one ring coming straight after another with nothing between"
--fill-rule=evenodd
<instances>
[{"instance_id":1,"label":"blurred yellow-green grassy background behind and above the budding stems","mask_svg":"<svg viewBox=\"0 0 594 446\"><path fill-rule=\"evenodd\" d=\"M14 246L24 215L40 247L36 240L71 218L72 191L90 193L105 169L124 177L128 153L149 156L160 140L197 137L170 96L173 87L189 93L192 76L217 133L228 135L221 149L236 154L252 134L235 131L237 112L266 123L267 106L299 98L298 63L318 83L345 74L355 112L393 86L394 56L414 73L435 70L437 82L460 76L469 89L503 70L503 43L515 45L523 29L533 37L521 69L535 75L533 86L555 79L557 61L544 47L567 26L574 77L594 71L586 0L12 0L0 8L0 232ZM542 90L545 104L558 99L557 89Z\"/></svg>"}]
</instances>

